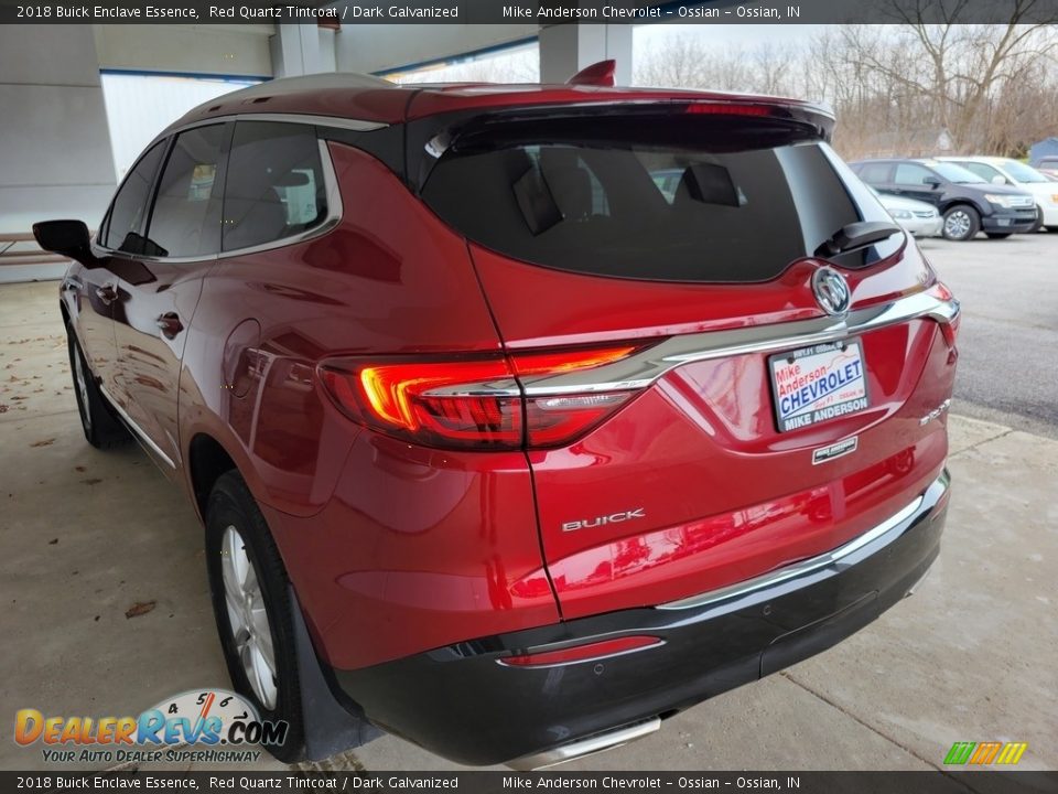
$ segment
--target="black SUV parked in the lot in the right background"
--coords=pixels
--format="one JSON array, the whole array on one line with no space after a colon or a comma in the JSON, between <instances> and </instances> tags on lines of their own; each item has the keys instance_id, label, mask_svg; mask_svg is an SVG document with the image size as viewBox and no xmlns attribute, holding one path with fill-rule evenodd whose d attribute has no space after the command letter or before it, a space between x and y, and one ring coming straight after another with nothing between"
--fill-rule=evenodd
<instances>
[{"instance_id":1,"label":"black SUV parked in the lot in the right background","mask_svg":"<svg viewBox=\"0 0 1058 794\"><path fill-rule=\"evenodd\" d=\"M1024 191L991 184L972 171L939 160L860 160L852 170L879 193L927 202L943 216L941 234L967 240L978 232L993 239L1032 232L1036 201Z\"/></svg>"}]
</instances>

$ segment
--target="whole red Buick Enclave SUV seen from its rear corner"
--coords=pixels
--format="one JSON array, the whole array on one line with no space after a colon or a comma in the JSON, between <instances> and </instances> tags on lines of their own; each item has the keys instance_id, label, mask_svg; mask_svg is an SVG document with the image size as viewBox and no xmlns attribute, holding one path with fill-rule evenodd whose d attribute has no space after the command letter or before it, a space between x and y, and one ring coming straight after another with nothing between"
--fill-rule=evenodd
<instances>
[{"instance_id":1,"label":"whole red Buick Enclave SUV seen from its rear corner","mask_svg":"<svg viewBox=\"0 0 1058 794\"><path fill-rule=\"evenodd\" d=\"M186 490L282 759L612 747L937 557L959 304L829 111L587 83L266 83L35 226L85 436Z\"/></svg>"}]
</instances>

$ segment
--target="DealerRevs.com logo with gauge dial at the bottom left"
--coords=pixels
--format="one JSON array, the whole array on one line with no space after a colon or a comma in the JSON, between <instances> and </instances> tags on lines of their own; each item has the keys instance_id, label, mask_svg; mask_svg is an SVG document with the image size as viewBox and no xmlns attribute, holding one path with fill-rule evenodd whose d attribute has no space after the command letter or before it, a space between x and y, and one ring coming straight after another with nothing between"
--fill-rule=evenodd
<instances>
[{"instance_id":1,"label":"DealerRevs.com logo with gauge dial at the bottom left","mask_svg":"<svg viewBox=\"0 0 1058 794\"><path fill-rule=\"evenodd\" d=\"M42 745L53 763L129 761L256 761L260 750L247 745L282 744L289 723L262 721L257 709L225 689L182 693L137 717L45 716L20 709L14 741Z\"/></svg>"}]
</instances>

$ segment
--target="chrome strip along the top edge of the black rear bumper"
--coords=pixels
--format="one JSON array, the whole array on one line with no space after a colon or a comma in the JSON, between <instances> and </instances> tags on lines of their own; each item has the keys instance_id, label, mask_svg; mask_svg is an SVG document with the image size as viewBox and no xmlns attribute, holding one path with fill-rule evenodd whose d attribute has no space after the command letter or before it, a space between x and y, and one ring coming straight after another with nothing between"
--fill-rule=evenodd
<instances>
[{"instance_id":1,"label":"chrome strip along the top edge of the black rear bumper","mask_svg":"<svg viewBox=\"0 0 1058 794\"><path fill-rule=\"evenodd\" d=\"M835 549L825 551L807 560L801 560L800 562L795 562L794 565L786 566L785 568L779 568L778 570L763 573L758 577L754 577L753 579L736 582L735 584L730 584L716 590L710 590L708 592L699 593L698 596L691 596L678 601L669 601L668 603L658 604L655 607L655 609L698 609L700 607L706 607L719 601L728 601L743 596L748 596L758 590L774 587L780 582L808 576L814 571L840 564L842 560L845 560L846 557L850 557L856 551L865 549L872 545L875 547L871 549L871 555L877 554L879 550L888 546L905 532L907 532L907 529L909 529L914 524L913 518L917 517L926 509L932 508L938 502L940 502L941 496L943 496L944 492L948 491L949 484L950 479L948 476L948 472L944 471L930 484L928 489L926 489L922 494L916 496L909 505L896 513L896 515L890 516L877 526L872 527L867 532L856 536L849 543L844 544L843 546L839 546ZM860 560L850 560L848 561L848 565L855 565Z\"/></svg>"}]
</instances>

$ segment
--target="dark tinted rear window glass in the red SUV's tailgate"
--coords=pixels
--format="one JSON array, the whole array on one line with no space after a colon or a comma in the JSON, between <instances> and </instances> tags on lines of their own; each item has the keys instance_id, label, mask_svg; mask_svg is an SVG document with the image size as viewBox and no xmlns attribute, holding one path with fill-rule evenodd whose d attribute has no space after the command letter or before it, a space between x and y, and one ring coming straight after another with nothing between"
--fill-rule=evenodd
<instances>
[{"instance_id":1,"label":"dark tinted rear window glass in the red SUV's tailgate","mask_svg":"<svg viewBox=\"0 0 1058 794\"><path fill-rule=\"evenodd\" d=\"M577 272L764 281L857 221L888 222L824 143L752 122L645 126L619 119L518 129L450 149L423 200L471 239ZM580 135L571 135L580 132ZM861 186L862 187L862 186ZM833 258L862 267L903 236Z\"/></svg>"}]
</instances>

